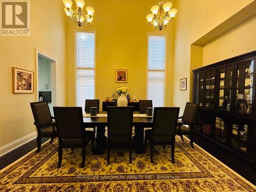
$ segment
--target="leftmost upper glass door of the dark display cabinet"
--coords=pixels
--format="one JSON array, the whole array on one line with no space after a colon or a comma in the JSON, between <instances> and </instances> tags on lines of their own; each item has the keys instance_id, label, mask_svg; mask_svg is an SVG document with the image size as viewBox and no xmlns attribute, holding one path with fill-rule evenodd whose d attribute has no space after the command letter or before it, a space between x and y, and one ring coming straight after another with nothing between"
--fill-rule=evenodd
<instances>
[{"instance_id":1,"label":"leftmost upper glass door of the dark display cabinet","mask_svg":"<svg viewBox=\"0 0 256 192\"><path fill-rule=\"evenodd\" d=\"M196 103L204 105L204 71L196 73Z\"/></svg>"}]
</instances>

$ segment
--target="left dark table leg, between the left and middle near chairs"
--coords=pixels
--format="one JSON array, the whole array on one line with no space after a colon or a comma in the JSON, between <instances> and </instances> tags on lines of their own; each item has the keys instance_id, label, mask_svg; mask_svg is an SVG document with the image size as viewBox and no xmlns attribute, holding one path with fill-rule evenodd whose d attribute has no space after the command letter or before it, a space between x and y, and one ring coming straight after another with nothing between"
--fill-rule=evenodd
<instances>
[{"instance_id":1,"label":"left dark table leg, between the left and middle near chairs","mask_svg":"<svg viewBox=\"0 0 256 192\"><path fill-rule=\"evenodd\" d=\"M106 136L105 136L105 126L99 125L97 126L96 132L96 147L94 148L94 155L102 155L104 153L106 147Z\"/></svg>"}]
</instances>

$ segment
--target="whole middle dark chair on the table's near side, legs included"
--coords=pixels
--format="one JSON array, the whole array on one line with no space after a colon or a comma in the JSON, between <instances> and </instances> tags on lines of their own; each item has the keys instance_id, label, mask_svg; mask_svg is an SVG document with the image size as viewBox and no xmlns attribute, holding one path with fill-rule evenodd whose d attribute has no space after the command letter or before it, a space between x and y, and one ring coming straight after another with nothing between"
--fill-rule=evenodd
<instances>
[{"instance_id":1,"label":"whole middle dark chair on the table's near side, legs included","mask_svg":"<svg viewBox=\"0 0 256 192\"><path fill-rule=\"evenodd\" d=\"M133 106L108 106L108 165L111 147L129 147L132 163Z\"/></svg>"}]
</instances>

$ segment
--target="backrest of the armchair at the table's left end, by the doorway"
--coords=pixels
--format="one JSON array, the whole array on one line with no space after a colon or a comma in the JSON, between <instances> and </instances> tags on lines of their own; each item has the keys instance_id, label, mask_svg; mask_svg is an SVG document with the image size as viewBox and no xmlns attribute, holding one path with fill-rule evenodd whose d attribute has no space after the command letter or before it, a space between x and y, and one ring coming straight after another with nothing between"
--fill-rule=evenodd
<instances>
[{"instance_id":1,"label":"backrest of the armchair at the table's left end, by the doorway","mask_svg":"<svg viewBox=\"0 0 256 192\"><path fill-rule=\"evenodd\" d=\"M30 106L36 123L48 124L52 121L48 102L31 102Z\"/></svg>"}]
</instances>

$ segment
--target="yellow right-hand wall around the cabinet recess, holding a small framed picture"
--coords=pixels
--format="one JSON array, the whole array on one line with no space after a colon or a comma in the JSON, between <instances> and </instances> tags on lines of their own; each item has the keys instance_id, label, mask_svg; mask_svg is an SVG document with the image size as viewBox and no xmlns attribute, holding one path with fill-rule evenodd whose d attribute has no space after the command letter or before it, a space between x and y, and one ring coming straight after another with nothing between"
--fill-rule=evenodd
<instances>
[{"instance_id":1,"label":"yellow right-hand wall around the cabinet recess, holding a small framed picture","mask_svg":"<svg viewBox=\"0 0 256 192\"><path fill-rule=\"evenodd\" d=\"M195 0L193 2L179 0L176 2L178 14L175 22L173 103L181 107L181 113L185 102L189 101L191 90L180 91L179 79L187 77L187 84L190 84L191 44L251 2L252 0Z\"/></svg>"}]
</instances>

